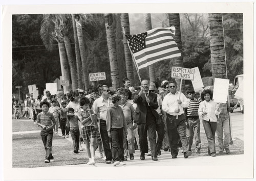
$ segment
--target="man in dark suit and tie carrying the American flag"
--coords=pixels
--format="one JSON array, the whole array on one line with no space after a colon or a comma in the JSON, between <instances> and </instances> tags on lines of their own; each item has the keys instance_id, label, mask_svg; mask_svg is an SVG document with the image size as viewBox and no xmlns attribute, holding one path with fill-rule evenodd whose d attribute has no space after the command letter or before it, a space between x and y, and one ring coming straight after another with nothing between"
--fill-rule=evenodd
<instances>
[{"instance_id":1,"label":"man in dark suit and tie carrying the American flag","mask_svg":"<svg viewBox=\"0 0 256 181\"><path fill-rule=\"evenodd\" d=\"M157 94L149 92L150 83L147 80L141 82L141 90L134 97L134 103L137 104L135 121L138 125L140 160L145 160L145 153L148 152L147 132L150 140L152 160L157 161L156 146L156 123L160 122Z\"/></svg>"}]
</instances>

